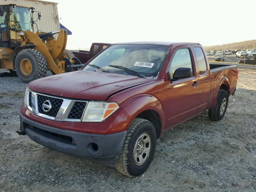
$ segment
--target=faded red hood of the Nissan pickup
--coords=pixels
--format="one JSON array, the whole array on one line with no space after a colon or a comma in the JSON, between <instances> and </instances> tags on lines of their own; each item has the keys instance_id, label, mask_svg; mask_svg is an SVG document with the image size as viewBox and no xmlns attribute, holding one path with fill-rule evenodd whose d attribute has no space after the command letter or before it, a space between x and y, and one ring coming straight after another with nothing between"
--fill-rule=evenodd
<instances>
[{"instance_id":1,"label":"faded red hood of the Nissan pickup","mask_svg":"<svg viewBox=\"0 0 256 192\"><path fill-rule=\"evenodd\" d=\"M130 75L76 71L34 80L28 84L28 88L66 98L106 100L111 94L150 81Z\"/></svg>"}]
</instances>

